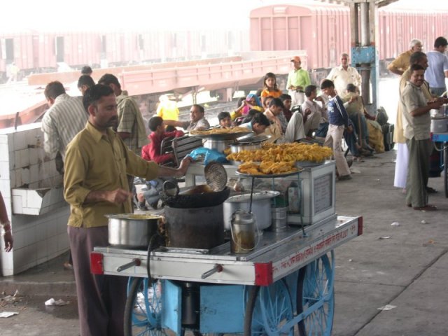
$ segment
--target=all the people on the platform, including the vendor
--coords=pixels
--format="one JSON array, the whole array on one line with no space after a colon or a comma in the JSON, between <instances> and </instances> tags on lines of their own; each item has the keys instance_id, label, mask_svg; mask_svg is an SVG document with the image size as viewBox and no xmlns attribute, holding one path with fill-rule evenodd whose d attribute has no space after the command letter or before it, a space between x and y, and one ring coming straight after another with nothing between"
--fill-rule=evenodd
<instances>
[{"instance_id":1,"label":"all the people on the platform, including the vendor","mask_svg":"<svg viewBox=\"0 0 448 336\"><path fill-rule=\"evenodd\" d=\"M434 50L425 54L421 41L412 40L410 49L388 68L401 76L394 185L405 190L406 205L416 210L436 209L428 203L429 111L448 102L444 85L447 45L447 39L439 37ZM352 162L346 160L342 140L353 159L363 162L374 153L370 133L377 129L372 128L375 118L367 113L360 96L358 71L349 66L349 55L343 53L340 65L321 83L313 84L300 57L292 57L290 62L293 69L285 90L279 88L274 73L266 73L258 92L239 99L235 111L218 114L218 127L247 127L278 144L315 141L329 146L338 181L351 179ZM91 75L92 69L85 66L78 80L81 97L69 96L57 81L45 87L49 109L41 124L43 148L55 158L57 170L64 176L64 197L71 207L71 259L66 264L75 274L81 335L123 335L125 279L90 272L94 246L108 245L104 215L131 213L134 197L139 207L147 203L156 209L155 186L184 176L192 161L186 157L177 168L165 166L173 155L162 153L162 140L211 125L199 104L191 106L190 120L180 121L179 109L166 95L160 97L155 116L145 125L138 104L121 89L116 76L106 73L95 84ZM443 94L445 98L440 97ZM141 194L134 192L135 176L147 183ZM6 251L10 251L13 237L4 208L0 194L0 222Z\"/></svg>"}]
</instances>

